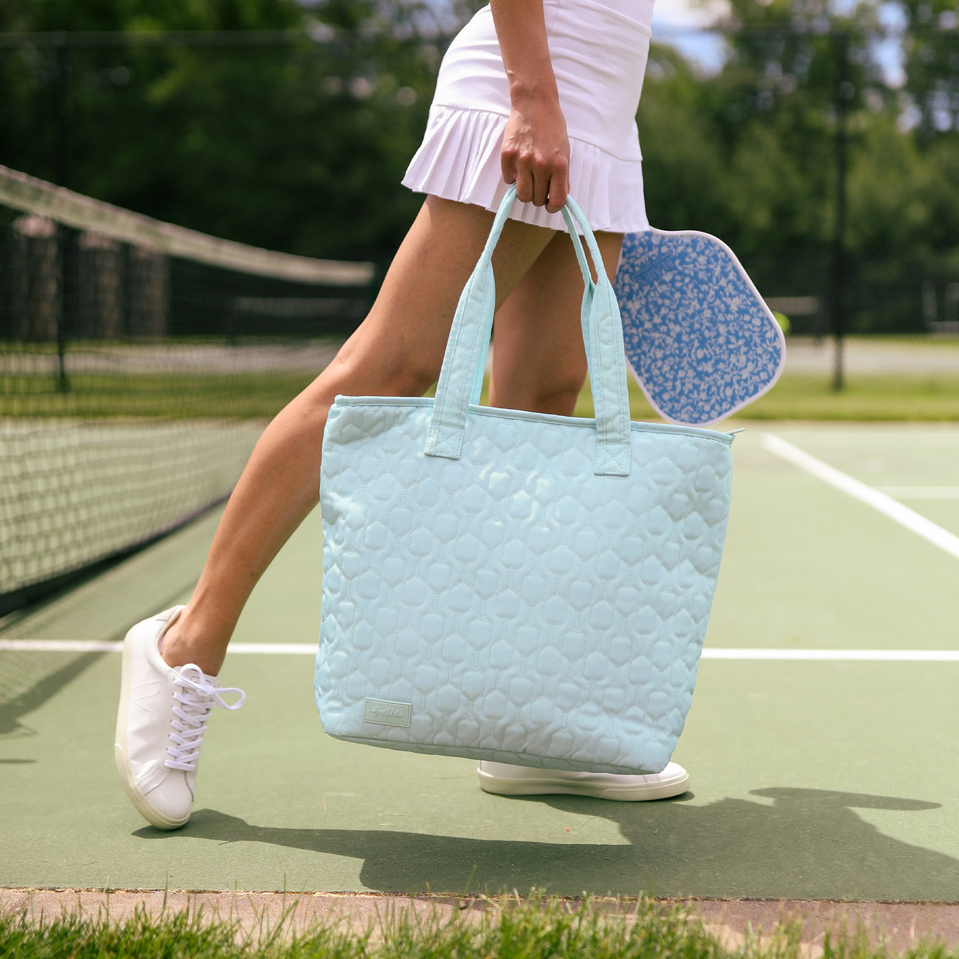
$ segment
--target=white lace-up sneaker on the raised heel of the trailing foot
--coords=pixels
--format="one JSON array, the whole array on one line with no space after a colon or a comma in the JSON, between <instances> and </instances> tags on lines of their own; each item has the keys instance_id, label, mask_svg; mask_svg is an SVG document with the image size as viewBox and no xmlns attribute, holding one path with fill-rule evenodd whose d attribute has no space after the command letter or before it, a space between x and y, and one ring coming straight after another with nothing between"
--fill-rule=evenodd
<instances>
[{"instance_id":1,"label":"white lace-up sneaker on the raised heel of the trailing foot","mask_svg":"<svg viewBox=\"0 0 959 959\"><path fill-rule=\"evenodd\" d=\"M123 685L114 755L120 781L137 811L161 830L190 818L199 747L214 706L238 710L243 690L222 688L198 666L171 667L160 656L163 634L182 606L133 626L123 644ZM239 699L227 705L223 692Z\"/></svg>"}]
</instances>

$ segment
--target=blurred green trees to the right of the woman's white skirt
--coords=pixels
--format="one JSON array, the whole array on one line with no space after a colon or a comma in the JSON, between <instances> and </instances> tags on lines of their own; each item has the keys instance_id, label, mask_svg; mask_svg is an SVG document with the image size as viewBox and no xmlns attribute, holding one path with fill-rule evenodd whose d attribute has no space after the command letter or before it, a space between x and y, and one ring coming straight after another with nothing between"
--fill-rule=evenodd
<instances>
[{"instance_id":1,"label":"blurred green trees to the right of the woman's white skirt","mask_svg":"<svg viewBox=\"0 0 959 959\"><path fill-rule=\"evenodd\" d=\"M695 225L744 249L828 244L835 35L848 32L849 246L956 246L959 35L952 5L937 3L938 14L913 0L899 8L899 77L889 75L887 32L868 3L838 16L819 0L735 0L740 30L726 36L726 64L709 78L657 50L638 118L650 220ZM949 29L934 29L938 21Z\"/></svg>"}]
</instances>

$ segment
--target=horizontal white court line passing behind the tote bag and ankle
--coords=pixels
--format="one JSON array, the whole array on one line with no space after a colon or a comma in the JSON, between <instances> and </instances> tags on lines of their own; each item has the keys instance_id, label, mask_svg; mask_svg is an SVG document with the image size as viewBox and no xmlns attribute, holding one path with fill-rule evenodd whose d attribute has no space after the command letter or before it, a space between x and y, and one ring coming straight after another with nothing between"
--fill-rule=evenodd
<instances>
[{"instance_id":1,"label":"horizontal white court line passing behind the tote bag and ankle","mask_svg":"<svg viewBox=\"0 0 959 959\"><path fill-rule=\"evenodd\" d=\"M123 643L82 640L0 640L0 652L118 653ZM316 656L316 643L230 643L230 652ZM703 659L823 663L959 663L959 649L749 649L707 646Z\"/></svg>"}]
</instances>

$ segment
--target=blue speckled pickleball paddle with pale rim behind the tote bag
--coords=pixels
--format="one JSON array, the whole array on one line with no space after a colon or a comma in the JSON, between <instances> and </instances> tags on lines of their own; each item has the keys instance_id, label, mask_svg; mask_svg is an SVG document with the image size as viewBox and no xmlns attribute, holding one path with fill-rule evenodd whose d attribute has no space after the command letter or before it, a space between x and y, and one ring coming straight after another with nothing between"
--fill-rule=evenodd
<instances>
[{"instance_id":1,"label":"blue speckled pickleball paddle with pale rim behind the tote bag","mask_svg":"<svg viewBox=\"0 0 959 959\"><path fill-rule=\"evenodd\" d=\"M708 233L627 234L614 286L626 360L669 422L716 423L783 372L779 323L733 251Z\"/></svg>"}]
</instances>

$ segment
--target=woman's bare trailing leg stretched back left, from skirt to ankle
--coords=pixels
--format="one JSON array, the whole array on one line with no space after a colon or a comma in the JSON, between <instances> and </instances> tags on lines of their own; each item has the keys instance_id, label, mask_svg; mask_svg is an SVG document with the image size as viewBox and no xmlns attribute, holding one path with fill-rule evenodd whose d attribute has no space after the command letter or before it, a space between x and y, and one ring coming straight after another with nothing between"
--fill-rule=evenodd
<instances>
[{"instance_id":1,"label":"woman's bare trailing leg stretched back left, from skirt to ankle","mask_svg":"<svg viewBox=\"0 0 959 959\"><path fill-rule=\"evenodd\" d=\"M195 663L219 672L253 586L316 505L323 427L334 397L420 396L435 382L459 294L492 222L493 214L479 206L435 197L423 204L369 316L257 442L193 596L164 637L169 666ZM505 223L493 257L498 305L554 235Z\"/></svg>"}]
</instances>

